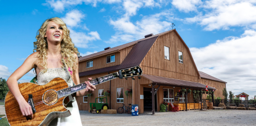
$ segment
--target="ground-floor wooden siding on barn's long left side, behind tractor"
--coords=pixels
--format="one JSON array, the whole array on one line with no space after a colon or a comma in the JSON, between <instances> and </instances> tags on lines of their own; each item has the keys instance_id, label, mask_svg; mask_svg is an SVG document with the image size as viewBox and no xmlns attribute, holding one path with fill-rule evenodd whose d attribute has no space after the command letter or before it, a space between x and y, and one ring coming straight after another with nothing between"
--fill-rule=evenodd
<instances>
[{"instance_id":1,"label":"ground-floor wooden siding on barn's long left side, behind tractor","mask_svg":"<svg viewBox=\"0 0 256 126\"><path fill-rule=\"evenodd\" d=\"M105 75L108 75L108 74L104 73L104 74L80 77L80 82L84 82L85 80L87 80L88 77L92 77L94 79L94 78L102 77ZM133 95L135 96L133 104L140 105L140 82L142 82L143 79L138 79L137 76L134 78L135 78L135 80L132 80L131 77L129 77L127 80L119 79L119 78L111 80L111 109L117 110L119 107L123 106L122 103L116 103L116 88L124 88L124 91L126 91L127 88L132 88L132 81L135 84L135 87L133 88ZM104 89L104 92L109 90L109 81L96 85L96 91L93 92L93 97L91 98L91 101L88 101L88 103L83 103L83 97L78 97L77 102L78 102L79 110L88 110L89 109L89 107L90 107L89 103L90 102L93 103L95 101L95 98L98 97L99 89ZM143 88L142 88L142 90L143 90ZM109 98L108 98L108 103L109 103ZM124 105L128 106L128 104L132 104L132 97L128 96L128 98L126 98L126 96L124 94Z\"/></svg>"}]
</instances>

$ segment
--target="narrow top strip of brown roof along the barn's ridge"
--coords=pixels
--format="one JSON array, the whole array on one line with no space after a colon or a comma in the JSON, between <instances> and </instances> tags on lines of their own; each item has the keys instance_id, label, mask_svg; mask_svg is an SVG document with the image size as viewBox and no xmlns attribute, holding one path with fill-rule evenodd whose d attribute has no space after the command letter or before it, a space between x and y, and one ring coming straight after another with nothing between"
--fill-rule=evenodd
<instances>
[{"instance_id":1,"label":"narrow top strip of brown roof along the barn's ridge","mask_svg":"<svg viewBox=\"0 0 256 126\"><path fill-rule=\"evenodd\" d=\"M172 30L175 30L175 29L172 29ZM91 55L83 56L83 57L79 58L78 60L80 62L80 61L84 61L86 59L92 58L94 56L99 56L99 55L104 55L104 54L107 54L107 53L115 52L116 50L123 49L125 47L131 46L131 45L136 44L140 41L144 41L144 40L154 38L154 37L159 36L159 35L163 35L167 32L172 31L172 30L169 30L169 31L166 31L166 32L163 32L163 33L159 33L159 34L147 37L147 38L143 38L143 39L140 39L140 40L137 40L137 41L129 42L129 43L126 43L126 44L123 44L123 45L120 45L120 46L116 46L116 47L113 47L113 48L110 48L110 49L107 49L107 50L103 50L103 51L100 51L100 52L97 52L97 53L93 53Z\"/></svg>"}]
</instances>

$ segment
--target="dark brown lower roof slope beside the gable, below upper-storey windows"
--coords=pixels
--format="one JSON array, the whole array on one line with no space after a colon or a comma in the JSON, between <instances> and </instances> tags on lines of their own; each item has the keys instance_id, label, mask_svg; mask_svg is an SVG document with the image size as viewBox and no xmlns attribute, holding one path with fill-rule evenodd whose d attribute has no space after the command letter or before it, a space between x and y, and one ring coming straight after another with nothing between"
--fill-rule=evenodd
<instances>
[{"instance_id":1,"label":"dark brown lower roof slope beside the gable, below upper-storey windows","mask_svg":"<svg viewBox=\"0 0 256 126\"><path fill-rule=\"evenodd\" d=\"M125 68L130 68L134 66L139 66L144 57L147 55L147 52L152 47L152 45L155 43L155 40L158 36L151 37L147 40L142 40L138 42L132 50L129 52L129 54L125 57L124 61L120 65L96 69L96 70L90 70L85 72L80 72L79 77L83 76L89 76L94 74L100 74L100 73L106 73L116 70L122 70Z\"/></svg>"}]
</instances>

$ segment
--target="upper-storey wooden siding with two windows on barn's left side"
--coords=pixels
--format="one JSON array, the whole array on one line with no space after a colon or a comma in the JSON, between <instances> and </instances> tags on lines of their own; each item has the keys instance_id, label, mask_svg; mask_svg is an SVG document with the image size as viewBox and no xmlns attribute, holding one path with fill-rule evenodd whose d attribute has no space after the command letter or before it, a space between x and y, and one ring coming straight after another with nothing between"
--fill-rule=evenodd
<instances>
[{"instance_id":1,"label":"upper-storey wooden siding with two windows on barn's left side","mask_svg":"<svg viewBox=\"0 0 256 126\"><path fill-rule=\"evenodd\" d=\"M91 61L91 60L79 62L79 72L85 72L85 71L89 71L89 70L96 70L96 69L101 69L101 68L105 68L105 67L119 65L124 61L124 58L128 55L128 53L131 51L131 49L133 47L134 47L134 45L126 47L124 49L121 49L119 52L113 53L116 55L115 62L113 62L113 63L107 63L107 56L109 56L109 55L91 59L91 60L93 60L93 67L90 67L90 68L86 68L86 62ZM110 54L110 55L113 55L113 54Z\"/></svg>"}]
</instances>

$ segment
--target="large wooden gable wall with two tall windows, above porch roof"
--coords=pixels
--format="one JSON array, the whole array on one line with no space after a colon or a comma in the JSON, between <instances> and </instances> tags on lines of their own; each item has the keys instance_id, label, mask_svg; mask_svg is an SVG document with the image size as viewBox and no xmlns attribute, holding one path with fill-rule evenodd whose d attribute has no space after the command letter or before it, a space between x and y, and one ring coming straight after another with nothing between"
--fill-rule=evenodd
<instances>
[{"instance_id":1,"label":"large wooden gable wall with two tall windows, above porch roof","mask_svg":"<svg viewBox=\"0 0 256 126\"><path fill-rule=\"evenodd\" d=\"M170 60L164 59L164 46L169 47ZM183 52L183 63L178 63L178 51ZM143 74L198 82L198 73L189 51L175 32L157 38L141 62Z\"/></svg>"}]
</instances>

